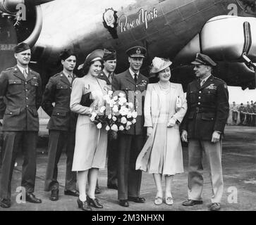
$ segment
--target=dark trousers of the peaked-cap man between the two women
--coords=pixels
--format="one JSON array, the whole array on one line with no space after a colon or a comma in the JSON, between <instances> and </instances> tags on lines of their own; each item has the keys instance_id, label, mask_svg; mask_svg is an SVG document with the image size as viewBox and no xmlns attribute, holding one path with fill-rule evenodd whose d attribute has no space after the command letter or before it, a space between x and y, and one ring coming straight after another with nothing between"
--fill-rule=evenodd
<instances>
[{"instance_id":1,"label":"dark trousers of the peaked-cap man between the two women","mask_svg":"<svg viewBox=\"0 0 256 225\"><path fill-rule=\"evenodd\" d=\"M118 200L140 195L141 170L136 160L145 144L145 136L118 134Z\"/></svg>"}]
</instances>

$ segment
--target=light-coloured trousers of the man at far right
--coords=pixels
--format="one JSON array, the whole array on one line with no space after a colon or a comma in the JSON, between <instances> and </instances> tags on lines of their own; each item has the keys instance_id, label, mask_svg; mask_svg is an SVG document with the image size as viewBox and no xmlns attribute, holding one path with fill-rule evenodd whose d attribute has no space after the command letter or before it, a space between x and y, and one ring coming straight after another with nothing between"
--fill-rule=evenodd
<instances>
[{"instance_id":1,"label":"light-coloured trousers of the man at far right","mask_svg":"<svg viewBox=\"0 0 256 225\"><path fill-rule=\"evenodd\" d=\"M221 203L223 177L221 166L222 143L190 139L188 142L188 199L201 200L203 188L202 155L205 153L212 184L212 203Z\"/></svg>"}]
</instances>

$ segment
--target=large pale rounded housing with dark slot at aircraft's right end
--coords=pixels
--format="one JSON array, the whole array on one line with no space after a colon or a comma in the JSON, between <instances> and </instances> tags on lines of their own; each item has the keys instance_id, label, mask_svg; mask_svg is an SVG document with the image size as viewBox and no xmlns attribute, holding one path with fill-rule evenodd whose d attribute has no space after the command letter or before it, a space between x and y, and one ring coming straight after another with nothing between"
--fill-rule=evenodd
<instances>
[{"instance_id":1,"label":"large pale rounded housing with dark slot at aircraft's right end","mask_svg":"<svg viewBox=\"0 0 256 225\"><path fill-rule=\"evenodd\" d=\"M245 53L256 62L256 18L221 15L208 20L174 61L189 63L197 52L228 62L245 62Z\"/></svg>"}]
</instances>

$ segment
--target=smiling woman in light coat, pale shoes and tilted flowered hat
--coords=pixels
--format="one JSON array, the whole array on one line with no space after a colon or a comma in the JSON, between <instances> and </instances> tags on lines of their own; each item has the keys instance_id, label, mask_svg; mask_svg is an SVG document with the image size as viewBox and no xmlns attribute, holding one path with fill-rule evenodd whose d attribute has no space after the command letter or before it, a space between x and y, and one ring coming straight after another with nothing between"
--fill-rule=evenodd
<instances>
[{"instance_id":1,"label":"smiling woman in light coat, pale shoes and tilted flowered hat","mask_svg":"<svg viewBox=\"0 0 256 225\"><path fill-rule=\"evenodd\" d=\"M157 186L156 205L163 202L161 176L165 176L165 202L173 204L171 182L173 175L183 172L183 154L179 124L187 110L181 84L169 82L171 61L155 57L152 71L159 77L156 84L148 84L145 96L145 127L147 142L136 162L136 169L153 174Z\"/></svg>"}]
</instances>

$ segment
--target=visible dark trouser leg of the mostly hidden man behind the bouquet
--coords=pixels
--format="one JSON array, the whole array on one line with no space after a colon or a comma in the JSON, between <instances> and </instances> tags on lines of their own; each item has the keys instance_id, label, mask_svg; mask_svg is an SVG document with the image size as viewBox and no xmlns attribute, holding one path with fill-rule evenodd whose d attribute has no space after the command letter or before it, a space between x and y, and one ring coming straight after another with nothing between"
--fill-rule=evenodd
<instances>
[{"instance_id":1,"label":"visible dark trouser leg of the mostly hidden man behind the bouquet","mask_svg":"<svg viewBox=\"0 0 256 225\"><path fill-rule=\"evenodd\" d=\"M108 134L108 162L107 162L107 186L117 186L117 165L118 165L118 137L111 139L111 133Z\"/></svg>"}]
</instances>

